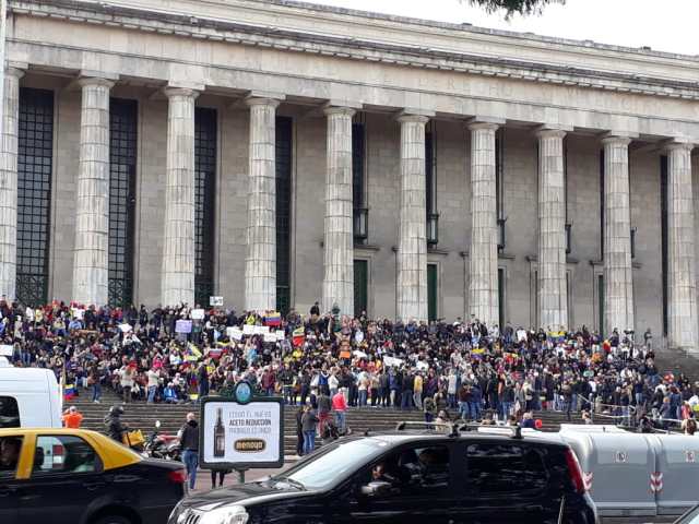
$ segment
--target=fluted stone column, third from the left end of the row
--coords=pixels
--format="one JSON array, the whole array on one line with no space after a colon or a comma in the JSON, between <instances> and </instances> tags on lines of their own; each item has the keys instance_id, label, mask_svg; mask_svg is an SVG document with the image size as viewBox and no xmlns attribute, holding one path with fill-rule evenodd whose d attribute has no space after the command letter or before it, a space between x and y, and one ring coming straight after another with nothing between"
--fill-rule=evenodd
<instances>
[{"instance_id":1,"label":"fluted stone column, third from the left end of the row","mask_svg":"<svg viewBox=\"0 0 699 524\"><path fill-rule=\"evenodd\" d=\"M194 102L193 90L167 87L163 306L194 306Z\"/></svg>"}]
</instances>

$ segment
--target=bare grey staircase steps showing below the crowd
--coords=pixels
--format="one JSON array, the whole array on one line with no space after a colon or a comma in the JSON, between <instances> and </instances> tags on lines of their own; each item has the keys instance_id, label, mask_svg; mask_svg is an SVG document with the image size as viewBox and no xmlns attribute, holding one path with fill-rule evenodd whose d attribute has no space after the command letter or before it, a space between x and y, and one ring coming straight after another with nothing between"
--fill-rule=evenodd
<instances>
[{"instance_id":1,"label":"bare grey staircase steps showing below the crowd","mask_svg":"<svg viewBox=\"0 0 699 524\"><path fill-rule=\"evenodd\" d=\"M87 390L80 390L81 395L66 402L66 406L74 405L85 417L82 427L104 432L104 417L109 407L120 404L120 398L108 389L103 389L100 404L90 402ZM122 420L133 429L141 429L147 437L155 427L155 421L161 421L161 431L176 433L185 421L187 413L194 412L199 415L199 406L192 404L146 404L144 402L131 403L123 406ZM284 410L284 451L286 455L296 454L296 412L297 407L287 406ZM544 431L557 431L560 424L566 422L566 414L558 412L540 412L536 418L541 418ZM390 430L403 420L424 420L422 412L401 412L392 408L351 408L347 413L347 426L356 433L366 430ZM573 424L581 422L579 415L573 414Z\"/></svg>"}]
</instances>

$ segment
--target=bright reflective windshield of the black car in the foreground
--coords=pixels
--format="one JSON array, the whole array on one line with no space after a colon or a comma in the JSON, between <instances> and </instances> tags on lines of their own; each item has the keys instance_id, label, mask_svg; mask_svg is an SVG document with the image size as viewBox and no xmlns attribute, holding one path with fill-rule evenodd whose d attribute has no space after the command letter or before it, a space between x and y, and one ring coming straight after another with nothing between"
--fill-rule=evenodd
<instances>
[{"instance_id":1,"label":"bright reflective windshield of the black car in the foreground","mask_svg":"<svg viewBox=\"0 0 699 524\"><path fill-rule=\"evenodd\" d=\"M376 439L337 443L330 451L321 451L274 478L282 481L292 479L301 483L307 489L327 488L370 462L387 446L387 442Z\"/></svg>"}]
</instances>

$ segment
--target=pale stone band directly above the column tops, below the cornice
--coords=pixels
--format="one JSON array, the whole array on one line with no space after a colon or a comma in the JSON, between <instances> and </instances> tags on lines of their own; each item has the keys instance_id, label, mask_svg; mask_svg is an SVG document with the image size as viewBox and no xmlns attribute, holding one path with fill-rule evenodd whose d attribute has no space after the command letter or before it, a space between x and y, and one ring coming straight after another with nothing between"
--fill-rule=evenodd
<instances>
[{"instance_id":1,"label":"pale stone band directly above the column tops, below the cornice","mask_svg":"<svg viewBox=\"0 0 699 524\"><path fill-rule=\"evenodd\" d=\"M264 4L252 3L264 11ZM283 38L270 37L256 47L223 35L220 41L194 39L185 25L166 27L169 14L163 13L155 13L158 17L153 20L153 12L147 16L141 12L138 20L145 25L139 29L137 19L121 20L111 12L117 8L83 5L73 0L50 4L13 0L9 60L52 74L70 76L92 70L137 85L182 86L224 96L242 97L263 88L311 105L341 100L369 111L416 108L433 111L437 118L497 118L650 141L699 140L699 104L695 100L531 82L506 73L494 78L378 61L368 67L348 56L328 56L321 52L322 46L316 46L316 53L275 48L274 41L292 45ZM94 20L87 20L90 13ZM191 25L194 22L198 25ZM202 24L197 19L189 28L199 31ZM367 52L377 59L384 55Z\"/></svg>"}]
</instances>

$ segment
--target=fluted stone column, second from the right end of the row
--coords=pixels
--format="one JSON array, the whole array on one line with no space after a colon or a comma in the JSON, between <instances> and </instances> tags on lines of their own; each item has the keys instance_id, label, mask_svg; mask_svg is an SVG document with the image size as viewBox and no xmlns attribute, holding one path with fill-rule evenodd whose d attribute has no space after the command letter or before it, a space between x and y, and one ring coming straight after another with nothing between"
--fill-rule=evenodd
<instances>
[{"instance_id":1,"label":"fluted stone column, second from the right end of the row","mask_svg":"<svg viewBox=\"0 0 699 524\"><path fill-rule=\"evenodd\" d=\"M604 336L633 329L629 143L608 136L604 144Z\"/></svg>"}]
</instances>

